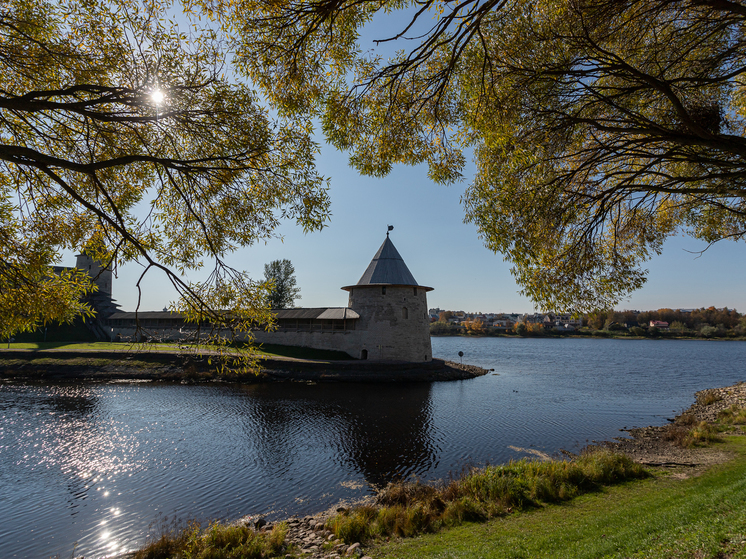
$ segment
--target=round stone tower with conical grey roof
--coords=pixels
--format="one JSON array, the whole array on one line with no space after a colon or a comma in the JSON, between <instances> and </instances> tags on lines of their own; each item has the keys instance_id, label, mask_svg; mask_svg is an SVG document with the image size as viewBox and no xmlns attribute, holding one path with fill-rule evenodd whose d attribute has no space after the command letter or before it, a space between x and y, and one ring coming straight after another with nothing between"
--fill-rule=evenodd
<instances>
[{"instance_id":1,"label":"round stone tower with conical grey roof","mask_svg":"<svg viewBox=\"0 0 746 559\"><path fill-rule=\"evenodd\" d=\"M431 361L427 292L419 285L386 233L363 277L343 287L350 293L348 307L360 315L357 329L360 359Z\"/></svg>"}]
</instances>

